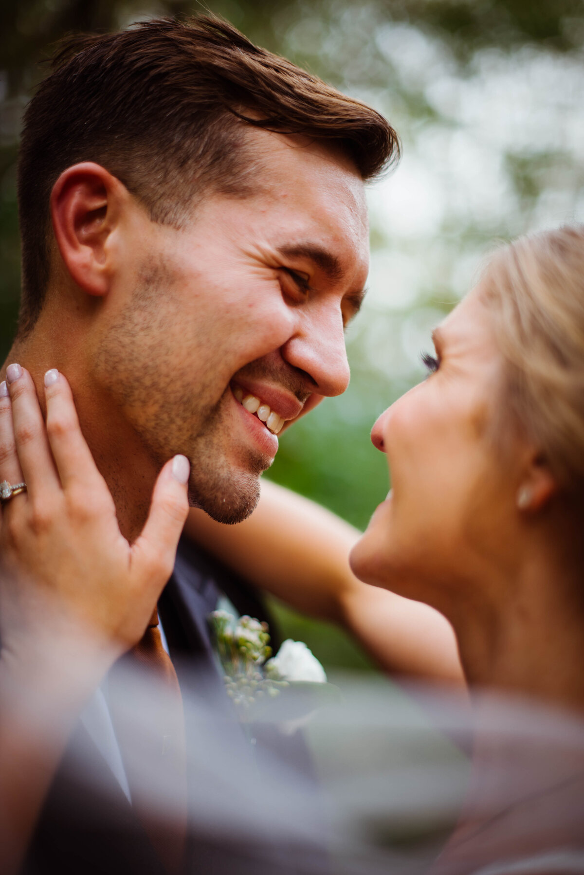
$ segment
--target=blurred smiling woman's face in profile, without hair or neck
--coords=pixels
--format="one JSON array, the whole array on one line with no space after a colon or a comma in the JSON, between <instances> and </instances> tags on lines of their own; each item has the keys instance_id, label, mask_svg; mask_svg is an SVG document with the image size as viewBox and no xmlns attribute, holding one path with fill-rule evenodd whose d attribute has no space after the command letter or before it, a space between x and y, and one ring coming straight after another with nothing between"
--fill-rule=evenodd
<instances>
[{"instance_id":1,"label":"blurred smiling woman's face in profile, without hair or neck","mask_svg":"<svg viewBox=\"0 0 584 875\"><path fill-rule=\"evenodd\" d=\"M496 448L503 357L480 290L444 320L434 344L426 380L373 427L392 488L355 545L351 565L362 580L448 616L464 597L461 582L484 571L488 579L512 553L518 474L512 447L504 461Z\"/></svg>"}]
</instances>

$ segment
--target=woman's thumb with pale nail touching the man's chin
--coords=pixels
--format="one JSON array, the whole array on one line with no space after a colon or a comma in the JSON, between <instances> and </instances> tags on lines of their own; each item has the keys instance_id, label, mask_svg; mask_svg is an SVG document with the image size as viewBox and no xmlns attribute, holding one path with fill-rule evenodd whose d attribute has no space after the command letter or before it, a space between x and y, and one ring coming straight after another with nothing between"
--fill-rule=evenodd
<instances>
[{"instance_id":1,"label":"woman's thumb with pale nail touching the man's chin","mask_svg":"<svg viewBox=\"0 0 584 875\"><path fill-rule=\"evenodd\" d=\"M158 474L150 514L132 547L132 566L138 574L144 574L144 570L156 570L165 579L171 576L179 537L188 514L186 484L190 471L186 456L175 456Z\"/></svg>"}]
</instances>

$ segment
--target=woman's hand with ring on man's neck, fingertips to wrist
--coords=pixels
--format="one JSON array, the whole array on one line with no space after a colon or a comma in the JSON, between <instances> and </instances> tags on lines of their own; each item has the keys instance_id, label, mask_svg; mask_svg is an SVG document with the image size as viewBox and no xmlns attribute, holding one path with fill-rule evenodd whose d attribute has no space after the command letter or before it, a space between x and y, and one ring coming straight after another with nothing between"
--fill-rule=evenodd
<instances>
[{"instance_id":1,"label":"woman's hand with ring on man's neck, fingertips to wrist","mask_svg":"<svg viewBox=\"0 0 584 875\"><path fill-rule=\"evenodd\" d=\"M189 464L160 472L142 535L130 545L88 449L65 377L45 376L46 425L31 375L11 365L0 392L0 481L25 481L4 502L0 554L3 648L70 633L110 660L144 634L172 565L188 503ZM6 574L4 573L4 577Z\"/></svg>"}]
</instances>

